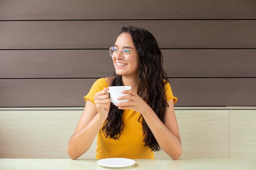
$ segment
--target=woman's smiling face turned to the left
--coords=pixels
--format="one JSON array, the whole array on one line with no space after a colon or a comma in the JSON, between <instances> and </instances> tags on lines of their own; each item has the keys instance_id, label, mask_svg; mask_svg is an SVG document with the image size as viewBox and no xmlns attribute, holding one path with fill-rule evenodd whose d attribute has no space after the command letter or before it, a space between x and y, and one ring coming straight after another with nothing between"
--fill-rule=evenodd
<instances>
[{"instance_id":1,"label":"woman's smiling face turned to the left","mask_svg":"<svg viewBox=\"0 0 256 170\"><path fill-rule=\"evenodd\" d=\"M129 33L121 33L116 42L115 48L117 50L128 49L131 52L137 52L133 42L132 37ZM139 74L139 64L138 64L138 53L130 53L130 58L128 60L124 60L121 57L121 53L119 52L116 57L112 58L115 70L117 75L122 76L135 76L137 77Z\"/></svg>"}]
</instances>

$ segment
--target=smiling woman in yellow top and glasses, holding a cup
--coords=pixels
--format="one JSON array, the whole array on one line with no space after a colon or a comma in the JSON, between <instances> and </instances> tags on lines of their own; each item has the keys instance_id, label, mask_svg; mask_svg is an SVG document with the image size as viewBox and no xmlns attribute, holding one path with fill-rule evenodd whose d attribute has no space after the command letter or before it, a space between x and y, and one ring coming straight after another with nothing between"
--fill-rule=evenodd
<instances>
[{"instance_id":1,"label":"smiling woman in yellow top and glasses, holding a cup","mask_svg":"<svg viewBox=\"0 0 256 170\"><path fill-rule=\"evenodd\" d=\"M69 141L72 159L83 155L97 135L96 159L124 157L154 159L154 151L164 150L172 159L182 153L173 96L163 71L162 53L154 36L145 29L121 29L110 47L114 77L98 79L85 96L85 108ZM132 86L110 103L108 86Z\"/></svg>"}]
</instances>

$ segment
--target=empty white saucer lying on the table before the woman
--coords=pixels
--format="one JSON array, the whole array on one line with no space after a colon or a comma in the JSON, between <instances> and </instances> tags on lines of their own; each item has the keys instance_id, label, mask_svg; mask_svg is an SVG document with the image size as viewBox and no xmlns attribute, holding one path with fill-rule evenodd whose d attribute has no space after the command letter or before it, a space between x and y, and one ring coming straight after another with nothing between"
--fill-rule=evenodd
<instances>
[{"instance_id":1,"label":"empty white saucer lying on the table before the woman","mask_svg":"<svg viewBox=\"0 0 256 170\"><path fill-rule=\"evenodd\" d=\"M132 166L135 164L135 161L127 158L106 158L98 160L97 163L101 166L109 168L121 168L126 166Z\"/></svg>"}]
</instances>

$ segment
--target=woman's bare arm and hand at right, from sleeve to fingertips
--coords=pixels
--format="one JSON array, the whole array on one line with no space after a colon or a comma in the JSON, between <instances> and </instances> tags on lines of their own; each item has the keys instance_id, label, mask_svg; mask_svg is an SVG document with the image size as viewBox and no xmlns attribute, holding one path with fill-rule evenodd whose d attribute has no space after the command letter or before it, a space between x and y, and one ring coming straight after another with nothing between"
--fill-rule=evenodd
<instances>
[{"instance_id":1,"label":"woman's bare arm and hand at right, from sleeve to fingertips","mask_svg":"<svg viewBox=\"0 0 256 170\"><path fill-rule=\"evenodd\" d=\"M116 106L119 109L132 109L141 113L162 150L172 159L178 159L182 153L182 146L173 99L168 102L169 107L166 109L163 123L137 93L130 90L124 91L124 94L129 95L121 96L118 99L129 99L129 102L118 103Z\"/></svg>"}]
</instances>

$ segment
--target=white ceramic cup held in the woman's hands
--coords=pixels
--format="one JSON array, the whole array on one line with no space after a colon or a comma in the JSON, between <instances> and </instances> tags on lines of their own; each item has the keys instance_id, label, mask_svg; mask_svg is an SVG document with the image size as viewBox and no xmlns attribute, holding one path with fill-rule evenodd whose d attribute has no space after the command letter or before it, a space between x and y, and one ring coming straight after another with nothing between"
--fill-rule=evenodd
<instances>
[{"instance_id":1,"label":"white ceramic cup held in the woman's hands","mask_svg":"<svg viewBox=\"0 0 256 170\"><path fill-rule=\"evenodd\" d=\"M113 104L117 104L117 103L122 103L122 102L128 102L129 100L117 100L117 97L120 96L125 96L128 94L123 94L122 91L125 90L130 90L132 88L132 86L109 86L107 90L108 93L110 94L110 102L112 102Z\"/></svg>"}]
</instances>

